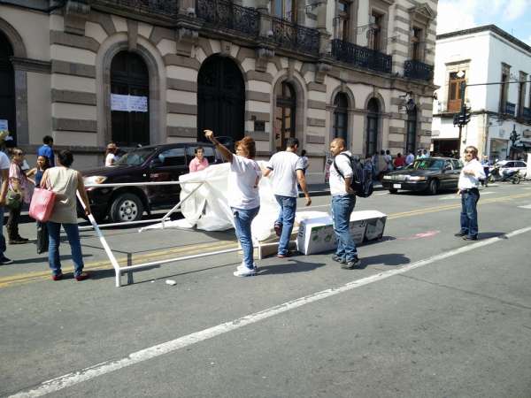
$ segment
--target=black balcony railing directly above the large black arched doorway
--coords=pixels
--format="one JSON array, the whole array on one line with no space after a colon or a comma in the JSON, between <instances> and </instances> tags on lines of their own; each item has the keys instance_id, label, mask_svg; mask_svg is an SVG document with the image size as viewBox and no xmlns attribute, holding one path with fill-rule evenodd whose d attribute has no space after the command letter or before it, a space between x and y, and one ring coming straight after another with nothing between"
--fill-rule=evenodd
<instances>
[{"instance_id":1,"label":"black balcony railing directly above the large black arched doorway","mask_svg":"<svg viewBox=\"0 0 531 398\"><path fill-rule=\"evenodd\" d=\"M226 0L196 0L196 14L212 27L235 30L256 37L260 13Z\"/></svg>"}]
</instances>

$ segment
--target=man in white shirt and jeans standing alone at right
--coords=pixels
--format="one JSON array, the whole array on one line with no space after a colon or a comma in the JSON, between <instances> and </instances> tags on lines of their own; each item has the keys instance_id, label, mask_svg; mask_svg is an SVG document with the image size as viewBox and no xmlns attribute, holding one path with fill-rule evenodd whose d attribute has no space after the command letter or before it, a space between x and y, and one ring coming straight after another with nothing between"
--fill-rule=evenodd
<instances>
[{"instance_id":1,"label":"man in white shirt and jeans standing alone at right","mask_svg":"<svg viewBox=\"0 0 531 398\"><path fill-rule=\"evenodd\" d=\"M461 230L456 236L466 241L478 240L478 211L480 200L480 180L485 178L483 166L478 159L478 149L468 146L465 149L465 167L458 181L458 195L461 195Z\"/></svg>"}]
</instances>

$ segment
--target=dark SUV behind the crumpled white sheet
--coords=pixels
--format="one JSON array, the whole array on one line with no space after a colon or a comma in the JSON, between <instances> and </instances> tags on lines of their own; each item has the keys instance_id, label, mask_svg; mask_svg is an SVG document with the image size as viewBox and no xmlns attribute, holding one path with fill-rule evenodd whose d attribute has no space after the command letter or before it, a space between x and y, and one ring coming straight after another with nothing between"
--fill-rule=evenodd
<instances>
[{"instance_id":1,"label":"dark SUV behind the crumpled white sheet","mask_svg":"<svg viewBox=\"0 0 531 398\"><path fill-rule=\"evenodd\" d=\"M211 143L174 143L133 149L120 157L117 165L81 173L86 185L177 181L182 174L189 172L189 162L195 157L198 146L204 148L204 157L211 165L223 162ZM109 217L115 223L139 220L144 211L150 213L154 208L170 208L179 201L180 192L181 186L177 184L87 188L95 218L101 221ZM81 215L80 206L78 210Z\"/></svg>"}]
</instances>

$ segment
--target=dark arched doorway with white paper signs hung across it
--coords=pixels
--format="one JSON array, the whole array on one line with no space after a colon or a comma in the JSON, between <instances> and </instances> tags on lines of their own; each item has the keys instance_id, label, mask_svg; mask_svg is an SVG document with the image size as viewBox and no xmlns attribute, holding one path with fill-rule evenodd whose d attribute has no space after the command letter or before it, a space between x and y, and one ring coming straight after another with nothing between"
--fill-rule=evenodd
<instances>
[{"instance_id":1,"label":"dark arched doorway with white paper signs hung across it","mask_svg":"<svg viewBox=\"0 0 531 398\"><path fill-rule=\"evenodd\" d=\"M120 51L111 64L112 141L122 147L150 144L150 73L142 57Z\"/></svg>"}]
</instances>

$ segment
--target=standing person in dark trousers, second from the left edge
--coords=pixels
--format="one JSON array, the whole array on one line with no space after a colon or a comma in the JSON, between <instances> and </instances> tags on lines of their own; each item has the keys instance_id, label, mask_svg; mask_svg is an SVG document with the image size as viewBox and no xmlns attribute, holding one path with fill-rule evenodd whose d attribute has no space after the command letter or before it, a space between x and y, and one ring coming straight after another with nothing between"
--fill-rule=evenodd
<instances>
[{"instance_id":1,"label":"standing person in dark trousers, second from the left edge","mask_svg":"<svg viewBox=\"0 0 531 398\"><path fill-rule=\"evenodd\" d=\"M19 234L19 218L22 203L29 203L31 200L31 192L26 173L22 171L23 162L24 152L22 149L13 148L12 162L9 168L8 191L9 195L12 195L15 200L12 200L9 205L9 219L5 225L10 245L27 243L29 241L29 239L23 238Z\"/></svg>"}]
</instances>

